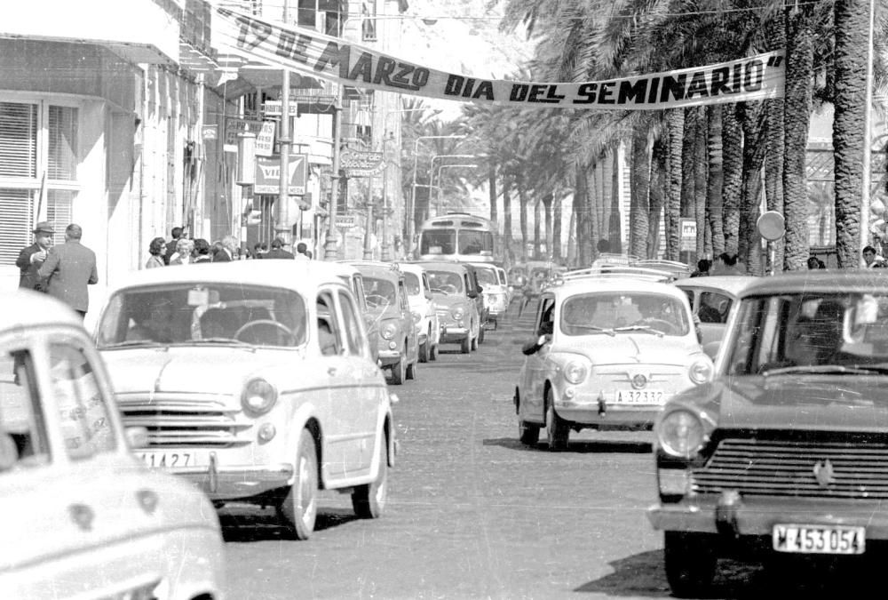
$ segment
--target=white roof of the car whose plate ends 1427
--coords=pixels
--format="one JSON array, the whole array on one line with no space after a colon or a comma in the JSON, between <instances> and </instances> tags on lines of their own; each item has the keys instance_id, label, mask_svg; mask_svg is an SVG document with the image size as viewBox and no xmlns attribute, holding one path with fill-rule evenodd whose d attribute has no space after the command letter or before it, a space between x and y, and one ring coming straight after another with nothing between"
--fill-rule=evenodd
<instances>
[{"instance_id":1,"label":"white roof of the car whose plate ends 1427","mask_svg":"<svg viewBox=\"0 0 888 600\"><path fill-rule=\"evenodd\" d=\"M232 260L143 269L115 285L114 291L133 286L207 282L272 285L305 294L321 284L342 284L340 272L321 260Z\"/></svg>"}]
</instances>

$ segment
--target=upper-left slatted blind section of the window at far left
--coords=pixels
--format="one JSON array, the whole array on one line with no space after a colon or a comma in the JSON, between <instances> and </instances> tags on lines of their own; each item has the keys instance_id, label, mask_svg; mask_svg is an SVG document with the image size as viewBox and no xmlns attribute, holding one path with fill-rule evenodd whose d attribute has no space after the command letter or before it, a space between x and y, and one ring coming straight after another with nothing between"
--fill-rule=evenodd
<instances>
[{"instance_id":1,"label":"upper-left slatted blind section of the window at far left","mask_svg":"<svg viewBox=\"0 0 888 600\"><path fill-rule=\"evenodd\" d=\"M0 175L36 177L37 105L0 102Z\"/></svg>"}]
</instances>

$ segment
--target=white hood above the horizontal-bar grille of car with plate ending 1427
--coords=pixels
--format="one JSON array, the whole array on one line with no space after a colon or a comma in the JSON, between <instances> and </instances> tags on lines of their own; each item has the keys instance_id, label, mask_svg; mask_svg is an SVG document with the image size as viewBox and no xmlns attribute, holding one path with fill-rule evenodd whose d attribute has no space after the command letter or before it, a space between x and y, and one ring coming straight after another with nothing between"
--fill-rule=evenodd
<instances>
[{"instance_id":1,"label":"white hood above the horizontal-bar grille of car with plate ending 1427","mask_svg":"<svg viewBox=\"0 0 888 600\"><path fill-rule=\"evenodd\" d=\"M266 370L291 372L294 350L170 346L101 353L116 394L184 392L237 395L245 380Z\"/></svg>"}]
</instances>

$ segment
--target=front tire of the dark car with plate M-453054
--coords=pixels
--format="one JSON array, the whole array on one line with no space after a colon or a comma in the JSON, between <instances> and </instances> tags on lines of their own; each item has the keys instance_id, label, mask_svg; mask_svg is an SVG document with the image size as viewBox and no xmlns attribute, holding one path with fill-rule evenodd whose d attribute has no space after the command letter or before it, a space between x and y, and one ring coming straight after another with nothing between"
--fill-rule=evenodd
<instances>
[{"instance_id":1,"label":"front tire of the dark car with plate M-453054","mask_svg":"<svg viewBox=\"0 0 888 600\"><path fill-rule=\"evenodd\" d=\"M666 580L679 598L706 596L716 572L711 536L706 533L664 532Z\"/></svg>"}]
</instances>

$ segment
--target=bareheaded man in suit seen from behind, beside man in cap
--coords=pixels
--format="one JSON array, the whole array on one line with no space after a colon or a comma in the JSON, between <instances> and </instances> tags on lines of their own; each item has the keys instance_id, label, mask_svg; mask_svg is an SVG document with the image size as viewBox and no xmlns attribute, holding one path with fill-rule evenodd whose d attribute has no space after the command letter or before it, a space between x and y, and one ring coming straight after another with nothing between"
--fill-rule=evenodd
<instances>
[{"instance_id":1,"label":"bareheaded man in suit seen from behind, beside man in cap","mask_svg":"<svg viewBox=\"0 0 888 600\"><path fill-rule=\"evenodd\" d=\"M90 294L86 286L99 283L96 253L80 243L83 229L74 223L65 228L65 244L52 246L37 271L46 280L46 292L86 316Z\"/></svg>"}]
</instances>

